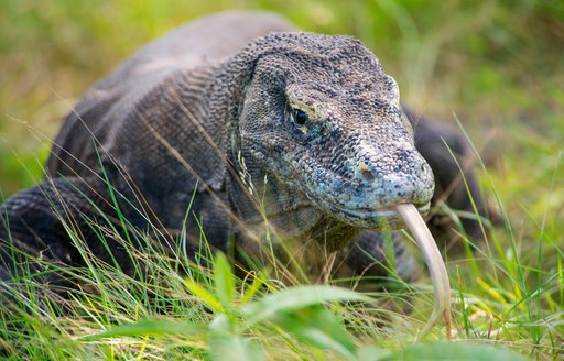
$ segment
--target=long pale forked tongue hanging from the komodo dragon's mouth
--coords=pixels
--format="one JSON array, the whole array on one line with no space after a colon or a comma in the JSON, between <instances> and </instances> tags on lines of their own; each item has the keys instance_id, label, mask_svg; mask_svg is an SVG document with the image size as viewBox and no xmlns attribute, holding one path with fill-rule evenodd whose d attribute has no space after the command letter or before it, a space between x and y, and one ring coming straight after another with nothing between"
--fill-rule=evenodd
<instances>
[{"instance_id":1,"label":"long pale forked tongue hanging from the komodo dragon's mouth","mask_svg":"<svg viewBox=\"0 0 564 361\"><path fill-rule=\"evenodd\" d=\"M419 248L423 252L425 263L427 264L431 280L433 281L433 289L435 294L435 307L433 314L423 328L421 337L425 336L431 328L437 322L438 318L443 318L446 326L446 337L451 339L452 319L451 319L451 283L446 273L445 263L438 252L436 242L431 236L427 226L417 209L413 205L399 205L397 207L401 217L408 225L411 233L415 238Z\"/></svg>"}]
</instances>

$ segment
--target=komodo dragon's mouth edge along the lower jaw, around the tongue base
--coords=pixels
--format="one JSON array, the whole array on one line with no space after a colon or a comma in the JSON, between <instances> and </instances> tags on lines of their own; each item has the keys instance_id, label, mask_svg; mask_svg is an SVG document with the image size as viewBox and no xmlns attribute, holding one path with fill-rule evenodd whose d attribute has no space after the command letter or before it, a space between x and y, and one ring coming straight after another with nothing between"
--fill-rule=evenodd
<instances>
[{"instance_id":1,"label":"komodo dragon's mouth edge along the lower jaw, around the tongue base","mask_svg":"<svg viewBox=\"0 0 564 361\"><path fill-rule=\"evenodd\" d=\"M415 204L420 214L425 214L430 209L431 203ZM397 209L398 205L384 208L341 208L334 206L335 216L343 221L357 227L365 228L403 228L405 226L403 218Z\"/></svg>"}]
</instances>

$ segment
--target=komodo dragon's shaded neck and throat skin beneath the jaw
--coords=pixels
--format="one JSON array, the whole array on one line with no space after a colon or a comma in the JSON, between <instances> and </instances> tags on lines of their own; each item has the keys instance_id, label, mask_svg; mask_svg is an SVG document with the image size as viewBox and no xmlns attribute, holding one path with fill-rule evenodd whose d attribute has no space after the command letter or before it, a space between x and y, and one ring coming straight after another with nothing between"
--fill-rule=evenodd
<instances>
[{"instance_id":1,"label":"komodo dragon's shaded neck and throat skin beneath the jaw","mask_svg":"<svg viewBox=\"0 0 564 361\"><path fill-rule=\"evenodd\" d=\"M245 223L241 231L251 232L247 238L286 245L297 242L297 247L314 241L330 252L358 233L357 228L312 206L284 178L267 173L268 165L260 155L240 149L230 149L229 154L236 172L230 172L227 179L228 198L231 209Z\"/></svg>"}]
</instances>

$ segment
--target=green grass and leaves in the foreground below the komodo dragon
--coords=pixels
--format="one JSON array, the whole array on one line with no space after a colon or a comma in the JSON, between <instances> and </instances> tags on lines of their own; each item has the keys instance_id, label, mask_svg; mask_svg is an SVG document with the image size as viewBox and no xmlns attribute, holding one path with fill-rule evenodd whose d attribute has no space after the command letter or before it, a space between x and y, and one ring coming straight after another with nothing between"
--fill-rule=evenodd
<instances>
[{"instance_id":1,"label":"green grass and leaves in the foreground below the komodo dragon","mask_svg":"<svg viewBox=\"0 0 564 361\"><path fill-rule=\"evenodd\" d=\"M530 314L529 304L549 299L546 294L532 291L534 297L503 302L511 296L500 291L501 282L512 282L508 277L498 277L499 283L487 277L479 281L485 292L494 294L485 297L466 289L458 272L453 277L458 280L453 292L455 342L437 342L444 339L444 329L436 327L425 343L413 347L433 308L426 280L401 292L360 294L332 286L339 280L330 278L317 285L284 285L279 278L293 280L286 274L291 271L276 263L275 270L250 272L241 280L220 253L213 256L204 248L200 258L189 261L182 250L171 252L142 233L131 231L126 239L117 228L99 227L128 250L135 275L126 275L118 262L108 264L94 256L69 227L87 266L52 270L79 280L80 288L68 289L68 298L61 299L26 276L0 284L2 292L14 295L10 304L0 306L4 352L31 359L215 360L234 353L245 360L415 360L423 352L433 359L456 353L468 360L476 360L477 354L480 360L519 360L509 349L530 352L533 341L534 355L556 352L551 341L558 333L542 331L539 324L558 327L557 316ZM133 243L141 243L142 252ZM502 264L495 269L509 273ZM546 285L557 289L553 280ZM562 313L561 306L552 307L554 314ZM523 319L521 308L529 317ZM517 336L514 325L520 326Z\"/></svg>"}]
</instances>

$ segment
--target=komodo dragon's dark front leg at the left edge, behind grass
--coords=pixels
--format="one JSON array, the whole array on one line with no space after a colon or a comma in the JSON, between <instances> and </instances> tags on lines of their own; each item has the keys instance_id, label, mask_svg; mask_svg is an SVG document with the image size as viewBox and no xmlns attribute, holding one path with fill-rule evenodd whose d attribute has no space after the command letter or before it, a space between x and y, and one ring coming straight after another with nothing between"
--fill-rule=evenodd
<instances>
[{"instance_id":1,"label":"komodo dragon's dark front leg at the left edge, behind grass","mask_svg":"<svg viewBox=\"0 0 564 361\"><path fill-rule=\"evenodd\" d=\"M78 177L48 179L12 196L0 207L1 280L33 276L41 283L65 284L50 265L83 265L77 242L104 261L120 260L127 269L124 251L111 239L106 247L99 238L102 225L121 226L110 198L106 182Z\"/></svg>"}]
</instances>

